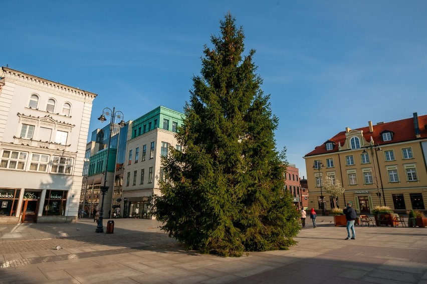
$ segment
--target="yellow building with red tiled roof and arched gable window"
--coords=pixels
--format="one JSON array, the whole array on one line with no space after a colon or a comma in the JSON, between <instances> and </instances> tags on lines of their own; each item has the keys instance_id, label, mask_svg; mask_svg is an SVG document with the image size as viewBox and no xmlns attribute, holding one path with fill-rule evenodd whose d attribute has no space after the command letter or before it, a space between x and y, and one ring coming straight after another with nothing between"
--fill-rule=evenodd
<instances>
[{"instance_id":1,"label":"yellow building with red tiled roof and arched gable window","mask_svg":"<svg viewBox=\"0 0 427 284\"><path fill-rule=\"evenodd\" d=\"M369 213L387 205L396 213L425 210L427 203L427 115L379 122L357 129L346 127L304 156L309 207L334 205L322 182L341 181L344 194L338 206L352 203L357 212ZM323 196L323 198L322 198Z\"/></svg>"}]
</instances>

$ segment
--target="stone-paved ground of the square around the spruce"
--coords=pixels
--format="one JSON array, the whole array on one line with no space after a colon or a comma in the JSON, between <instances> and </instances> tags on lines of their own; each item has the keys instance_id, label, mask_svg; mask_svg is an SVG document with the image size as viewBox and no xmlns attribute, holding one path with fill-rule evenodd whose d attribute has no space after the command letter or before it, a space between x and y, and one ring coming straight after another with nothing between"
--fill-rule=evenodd
<instances>
[{"instance_id":1,"label":"stone-paved ground of the square around the spruce","mask_svg":"<svg viewBox=\"0 0 427 284\"><path fill-rule=\"evenodd\" d=\"M113 234L91 219L0 224L0 283L427 284L425 228L356 226L344 240L332 220L307 224L289 250L243 257L184 250L155 220L114 219Z\"/></svg>"}]
</instances>

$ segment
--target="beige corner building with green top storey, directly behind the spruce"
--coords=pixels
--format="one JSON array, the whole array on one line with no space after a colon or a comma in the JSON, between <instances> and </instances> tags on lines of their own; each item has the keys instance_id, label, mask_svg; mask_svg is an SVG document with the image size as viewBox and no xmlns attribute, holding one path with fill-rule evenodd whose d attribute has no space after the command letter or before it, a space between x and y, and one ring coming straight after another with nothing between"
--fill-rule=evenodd
<instances>
[{"instance_id":1,"label":"beige corner building with green top storey, directly behind the spruce","mask_svg":"<svg viewBox=\"0 0 427 284\"><path fill-rule=\"evenodd\" d=\"M181 149L175 132L183 116L159 106L130 124L123 172L124 217L152 218L151 196L160 195L158 181L166 178L161 156L167 155L169 145Z\"/></svg>"}]
</instances>

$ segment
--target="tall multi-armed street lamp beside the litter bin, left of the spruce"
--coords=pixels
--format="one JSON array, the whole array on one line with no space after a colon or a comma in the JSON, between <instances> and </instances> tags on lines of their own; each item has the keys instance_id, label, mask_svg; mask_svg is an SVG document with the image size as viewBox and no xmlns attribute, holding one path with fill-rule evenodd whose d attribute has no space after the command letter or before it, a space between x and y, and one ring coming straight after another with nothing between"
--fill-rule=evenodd
<instances>
[{"instance_id":1,"label":"tall multi-armed street lamp beside the litter bin, left of the spruce","mask_svg":"<svg viewBox=\"0 0 427 284\"><path fill-rule=\"evenodd\" d=\"M119 118L119 119L122 118L122 120L119 122L120 127L123 127L126 124L123 120L123 116L124 116L123 112L121 112L120 110L116 110L115 107L113 107L113 110L111 110L111 108L105 107L102 110L102 114L101 116L99 116L98 120L100 120L101 122L104 122L105 120L107 120L105 116L111 116L110 133L108 137L107 158L105 160L104 185L100 186L100 190L102 194L101 211L99 212L98 225L96 226L95 232L104 232L104 226L102 224L102 221L104 219L104 196L105 196L105 193L107 193L108 191L108 186L106 186L105 184L107 183L108 155L110 153L111 135L114 130L114 123L116 118Z\"/></svg>"}]
</instances>

